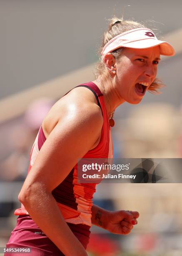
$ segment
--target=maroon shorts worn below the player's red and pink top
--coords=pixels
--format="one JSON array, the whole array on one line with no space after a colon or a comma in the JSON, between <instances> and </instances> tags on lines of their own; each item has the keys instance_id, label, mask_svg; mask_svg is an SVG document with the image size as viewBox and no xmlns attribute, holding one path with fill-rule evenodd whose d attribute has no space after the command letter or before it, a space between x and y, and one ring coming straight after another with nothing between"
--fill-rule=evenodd
<instances>
[{"instance_id":1,"label":"maroon shorts worn below the player's red and pink top","mask_svg":"<svg viewBox=\"0 0 182 256\"><path fill-rule=\"evenodd\" d=\"M90 227L67 223L75 236L86 248L89 242ZM6 248L30 247L31 253L5 253L5 256L57 256L64 255L60 249L40 230L29 215L20 215L17 225L11 232Z\"/></svg>"}]
</instances>

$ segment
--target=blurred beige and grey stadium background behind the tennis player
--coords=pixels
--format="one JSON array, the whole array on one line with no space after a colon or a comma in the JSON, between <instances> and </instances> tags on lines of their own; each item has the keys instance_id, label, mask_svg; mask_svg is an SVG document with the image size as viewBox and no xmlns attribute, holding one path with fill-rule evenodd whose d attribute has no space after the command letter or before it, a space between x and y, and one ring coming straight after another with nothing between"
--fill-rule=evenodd
<instances>
[{"instance_id":1,"label":"blurred beige and grey stadium background behind the tennis player","mask_svg":"<svg viewBox=\"0 0 182 256\"><path fill-rule=\"evenodd\" d=\"M139 105L115 111L114 157L182 157L181 10L181 0L0 0L0 247L16 225L17 196L42 120L68 90L95 79L97 49L113 15L144 22L176 50L158 67L167 85L162 94L147 92ZM181 202L181 184L100 184L95 204L137 210L140 218L129 236L92 227L88 253L182 255Z\"/></svg>"}]
</instances>

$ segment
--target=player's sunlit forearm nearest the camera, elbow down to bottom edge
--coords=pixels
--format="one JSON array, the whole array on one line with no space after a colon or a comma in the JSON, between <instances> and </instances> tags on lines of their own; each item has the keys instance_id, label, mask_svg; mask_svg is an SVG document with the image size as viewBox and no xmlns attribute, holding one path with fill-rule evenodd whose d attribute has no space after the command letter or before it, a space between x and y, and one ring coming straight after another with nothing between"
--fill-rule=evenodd
<instances>
[{"instance_id":1,"label":"player's sunlit forearm nearest the camera, elbow down to bottom edge","mask_svg":"<svg viewBox=\"0 0 182 256\"><path fill-rule=\"evenodd\" d=\"M50 193L30 194L22 200L26 210L50 240L66 256L86 256L85 248L65 222Z\"/></svg>"}]
</instances>

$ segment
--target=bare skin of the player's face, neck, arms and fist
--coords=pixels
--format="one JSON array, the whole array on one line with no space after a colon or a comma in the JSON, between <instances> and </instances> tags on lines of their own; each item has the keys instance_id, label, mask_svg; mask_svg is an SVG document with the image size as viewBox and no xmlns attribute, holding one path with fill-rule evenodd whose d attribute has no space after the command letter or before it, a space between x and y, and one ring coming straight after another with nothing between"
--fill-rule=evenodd
<instances>
[{"instance_id":1,"label":"bare skin of the player's face, neck, arms and fist","mask_svg":"<svg viewBox=\"0 0 182 256\"><path fill-rule=\"evenodd\" d=\"M136 93L135 84L149 82L150 86L157 74L159 57L158 46L142 50L124 49L118 62L112 54L106 55L108 69L115 70L111 81L104 84L107 95L101 84L93 82L104 95L108 116L125 101L140 103L143 96ZM67 226L52 190L67 177L77 159L99 144L102 125L101 109L87 88L77 87L56 102L42 123L47 139L18 197L35 223L65 255L85 256L87 253ZM116 234L130 233L138 217L138 212L110 212L95 205L92 207L92 224Z\"/></svg>"}]
</instances>

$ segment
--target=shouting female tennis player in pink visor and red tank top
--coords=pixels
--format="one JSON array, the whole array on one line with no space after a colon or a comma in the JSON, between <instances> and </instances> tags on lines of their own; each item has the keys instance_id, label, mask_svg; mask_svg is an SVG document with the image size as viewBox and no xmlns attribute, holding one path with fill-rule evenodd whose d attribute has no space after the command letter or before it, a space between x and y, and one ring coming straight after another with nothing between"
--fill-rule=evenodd
<instances>
[{"instance_id":1,"label":"shouting female tennis player in pink visor and red tank top","mask_svg":"<svg viewBox=\"0 0 182 256\"><path fill-rule=\"evenodd\" d=\"M77 161L112 158L115 109L123 102L140 103L147 90L157 92L160 55L175 51L140 23L118 18L111 20L101 50L97 79L67 92L42 122L7 248L30 247L30 255L85 256L92 224L122 235L137 224L136 211L93 205L96 184L78 182Z\"/></svg>"}]
</instances>

